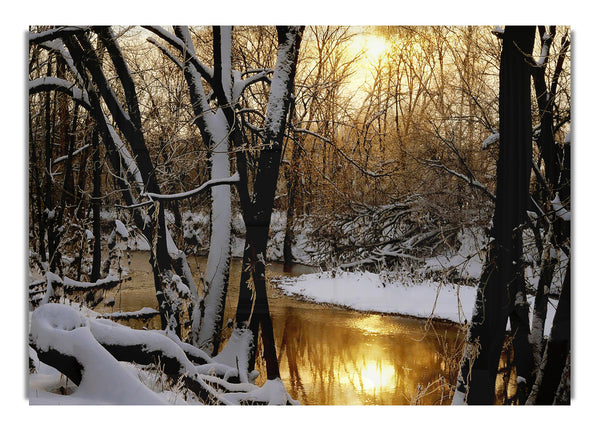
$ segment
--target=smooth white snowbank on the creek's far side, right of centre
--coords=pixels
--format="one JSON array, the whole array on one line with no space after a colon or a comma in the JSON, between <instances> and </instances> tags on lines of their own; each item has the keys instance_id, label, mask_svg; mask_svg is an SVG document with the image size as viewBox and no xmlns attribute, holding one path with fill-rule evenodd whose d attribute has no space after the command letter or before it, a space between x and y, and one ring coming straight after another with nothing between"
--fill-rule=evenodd
<instances>
[{"instance_id":1,"label":"smooth white snowbank on the creek's far side, right of centre","mask_svg":"<svg viewBox=\"0 0 600 431\"><path fill-rule=\"evenodd\" d=\"M392 313L419 318L470 321L477 287L368 271L332 270L298 277L278 277L276 286L287 295L359 311ZM533 309L533 296L527 300ZM550 300L544 333L550 334L556 300ZM530 313L531 318L531 313Z\"/></svg>"}]
</instances>

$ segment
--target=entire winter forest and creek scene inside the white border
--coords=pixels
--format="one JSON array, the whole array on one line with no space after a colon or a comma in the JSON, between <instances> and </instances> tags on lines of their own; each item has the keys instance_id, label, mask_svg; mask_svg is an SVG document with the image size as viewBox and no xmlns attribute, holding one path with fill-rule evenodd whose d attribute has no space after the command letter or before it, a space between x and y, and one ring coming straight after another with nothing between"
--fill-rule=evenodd
<instances>
[{"instance_id":1,"label":"entire winter forest and creek scene inside the white border","mask_svg":"<svg viewBox=\"0 0 600 431\"><path fill-rule=\"evenodd\" d=\"M568 26L31 26L30 404L571 403Z\"/></svg>"}]
</instances>

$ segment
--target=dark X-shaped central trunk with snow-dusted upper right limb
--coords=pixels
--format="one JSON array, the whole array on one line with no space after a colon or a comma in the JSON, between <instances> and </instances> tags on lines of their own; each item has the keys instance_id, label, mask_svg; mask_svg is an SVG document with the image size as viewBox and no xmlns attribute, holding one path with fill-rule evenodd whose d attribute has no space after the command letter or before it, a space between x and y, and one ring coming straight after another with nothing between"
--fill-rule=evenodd
<instances>
[{"instance_id":1,"label":"dark X-shaped central trunk with snow-dusted upper right limb","mask_svg":"<svg viewBox=\"0 0 600 431\"><path fill-rule=\"evenodd\" d=\"M243 179L239 193L246 224L246 244L236 326L238 329L252 330L254 347L260 326L269 380L279 378L279 366L267 299L265 256L302 32L302 27L277 28L277 62L265 117L265 139L259 156L251 198L247 188L247 166L240 163L245 159L238 157L238 171ZM250 366L254 366L254 355L251 355Z\"/></svg>"}]
</instances>

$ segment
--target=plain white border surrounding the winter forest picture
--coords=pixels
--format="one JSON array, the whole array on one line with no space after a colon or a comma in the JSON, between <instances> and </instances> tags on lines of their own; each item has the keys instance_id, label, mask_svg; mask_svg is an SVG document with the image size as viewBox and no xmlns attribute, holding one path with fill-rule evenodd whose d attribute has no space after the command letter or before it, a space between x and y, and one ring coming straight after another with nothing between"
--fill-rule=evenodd
<instances>
[{"instance_id":1,"label":"plain white border surrounding the winter forest picture","mask_svg":"<svg viewBox=\"0 0 600 431\"><path fill-rule=\"evenodd\" d=\"M8 292L3 300L5 304L13 304L8 316L3 320L5 326L11 326L7 330L3 346L3 352L10 354L2 355L1 370L11 370L10 377L5 377L4 391L2 395L3 412L8 412L5 421L15 419L28 422L34 426L44 426L45 429L64 429L70 423L69 418L75 417L79 424L86 422L86 429L104 429L104 421L88 422L86 415L96 416L97 408L60 408L47 409L36 408L28 410L25 399L26 380L14 370L24 368L25 348L23 340L26 334L26 306L24 304L23 286L25 279L25 259L27 241L27 159L26 138L27 123L27 97L25 87L26 77L26 31L30 24L130 24L146 23L158 24L164 22L182 24L275 24L275 23L305 23L305 24L571 24L573 26L573 100L574 124L576 130L574 137L574 172L575 172L575 211L574 211L574 242L575 242L575 277L574 277L574 299L575 308L575 383L574 383L574 406L568 410L562 410L560 415L532 415L528 409L511 410L511 417L515 420L529 423L538 421L538 426L547 425L549 429L565 428L569 426L574 417L591 415L593 397L596 388L592 385L597 379L586 378L588 373L596 375L594 346L585 343L586 339L592 339L592 328L587 317L597 314L600 304L598 298L597 276L594 274L598 264L597 242L599 240L597 226L598 210L598 179L595 177L597 171L596 163L600 159L600 145L598 145L595 130L598 123L598 86L592 81L598 73L598 42L597 23L592 20L596 14L590 13L589 2L582 0L564 1L548 0L539 2L523 2L522 0L507 0L503 2L486 3L481 1L454 1L429 0L426 2L400 2L368 0L358 1L329 1L306 0L303 2L290 2L289 6L282 6L281 2L256 3L251 1L231 0L228 2L203 2L201 11L194 13L193 7L198 7L198 1L179 1L177 7L170 7L170 3L149 0L143 3L122 0L107 0L101 2L99 8L97 2L81 1L41 1L31 0L28 2L14 3L10 8L5 6L3 11L2 47L3 67L1 68L4 91L2 93L1 118L2 118L2 157L0 157L0 175L3 185L4 202L0 212L0 226L2 226L2 243L0 245L3 280L2 290ZM143 5L143 6L140 6ZM226 7L225 7L226 6ZM191 8L191 9L188 9ZM233 17L231 17L231 11ZM117 13L118 11L118 13ZM22 268L21 271L8 272L11 268ZM17 329L14 329L14 328ZM25 373L24 373L25 374ZM104 411L105 418L119 415L119 422L135 421L143 428L144 426L156 425L156 423L167 425L171 422L189 426L190 420L203 420L197 412L193 418L182 410L174 413L173 408L165 409L165 414L156 415L155 410L139 408L131 410L112 409ZM275 420L272 426L281 427L283 421L288 426L286 429L301 429L306 426L307 421L336 421L337 426L348 426L350 429L373 428L374 426L387 427L397 423L401 415L402 423L406 426L418 424L419 429L439 429L439 423L435 418L462 422L464 411L461 409L438 409L435 415L429 414L427 408L412 409L381 409L373 408L341 408L333 410L320 408L301 408L299 411L290 409L244 409L239 413L232 414L240 421L261 420L263 413L274 414ZM120 410L115 412L115 410ZM492 425L490 429L505 428L504 409L478 409L477 415L485 414L488 422ZM134 414L131 414L131 412ZM31 414L31 413L35 414ZM513 413L514 412L514 413ZM548 412L544 410L544 412ZM214 413L214 412L213 412ZM209 422L216 424L223 419L223 412L216 414L204 414L209 416ZM237 413L237 412L236 412ZM309 413L309 414L307 414ZM328 414L326 414L328 413ZM398 414L400 413L400 415ZM303 421L293 421L293 418L302 417ZM290 420L290 418L292 420ZM114 423L114 418L111 418ZM494 420L499 419L499 420ZM456 423L455 422L455 423ZM124 423L124 422L123 422ZM130 423L130 422L127 422ZM210 425L210 423L209 423ZM154 429L152 426L150 429Z\"/></svg>"}]
</instances>

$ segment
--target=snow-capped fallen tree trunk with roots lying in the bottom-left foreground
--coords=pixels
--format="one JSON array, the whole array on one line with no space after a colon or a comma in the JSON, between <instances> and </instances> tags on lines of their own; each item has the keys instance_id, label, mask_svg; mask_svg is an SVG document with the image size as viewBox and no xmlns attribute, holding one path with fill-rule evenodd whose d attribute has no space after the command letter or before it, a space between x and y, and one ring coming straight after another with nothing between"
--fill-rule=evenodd
<instances>
[{"instance_id":1,"label":"snow-capped fallen tree trunk with roots lying in the bottom-left foreground","mask_svg":"<svg viewBox=\"0 0 600 431\"><path fill-rule=\"evenodd\" d=\"M77 385L73 395L91 404L165 403L122 362L157 365L173 385L183 385L204 404L296 404L281 380L258 387L252 383L257 372L223 363L225 355L219 362L173 333L131 329L75 306L38 307L31 315L30 346L41 362Z\"/></svg>"}]
</instances>

